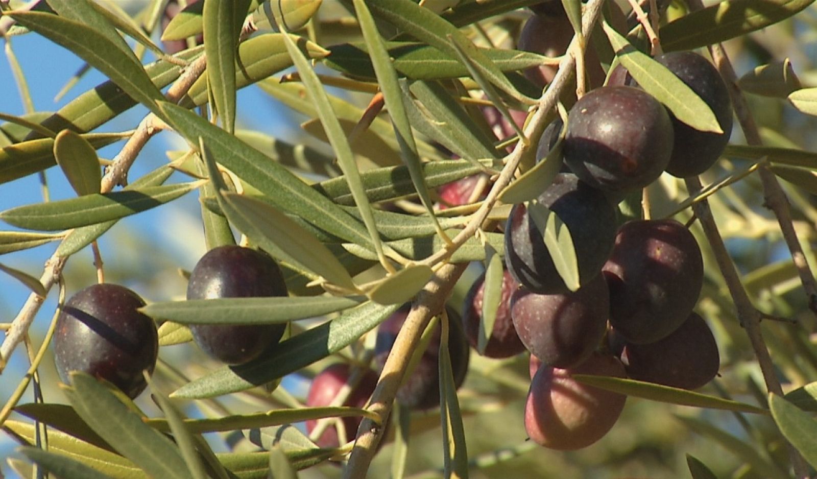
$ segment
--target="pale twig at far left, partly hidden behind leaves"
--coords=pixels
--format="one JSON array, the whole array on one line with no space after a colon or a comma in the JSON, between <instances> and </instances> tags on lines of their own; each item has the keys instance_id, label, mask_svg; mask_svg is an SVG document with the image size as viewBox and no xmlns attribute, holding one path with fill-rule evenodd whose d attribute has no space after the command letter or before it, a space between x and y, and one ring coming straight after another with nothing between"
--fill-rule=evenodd
<instances>
[{"instance_id":1,"label":"pale twig at far left, partly hidden behind leaves","mask_svg":"<svg viewBox=\"0 0 817 479\"><path fill-rule=\"evenodd\" d=\"M190 87L193 86L196 79L201 76L206 65L207 60L203 55L194 60L194 62L185 69L185 72L176 79L176 83L173 83L167 90L167 94L165 94L167 101L174 103L179 101L181 96L190 90ZM151 118L155 118L154 114L148 114L145 119L142 120L140 128L136 129L133 136L128 139L122 150L116 155L114 164L109 168L109 171L105 173L105 177L102 178L101 191L103 193L113 190L114 186L123 181L128 169L131 168L134 160L136 160L136 155L139 154L150 137L158 132L158 130L153 127L154 122L152 120L149 121ZM45 264L45 271L43 271L40 277L40 283L42 283L42 287L45 288L46 293L51 290L51 287L54 286L56 280L62 274L62 269L65 267L66 261L68 261L68 257L60 257L57 256L56 253L48 258ZM34 316L37 316L37 312L40 310L40 307L42 307L42 302L44 301L45 298L37 293L29 294L29 298L25 301L23 307L20 308L20 312L17 313L17 316L12 321L11 328L9 328L6 338L3 339L2 345L0 345L0 374L2 374L3 369L5 369L5 365L11 353L15 350L17 345L20 344L23 338L25 338L25 334L27 334L34 320Z\"/></svg>"}]
</instances>

